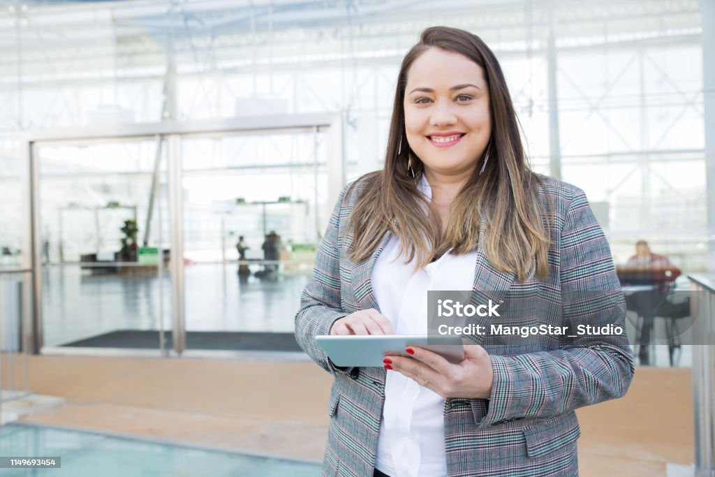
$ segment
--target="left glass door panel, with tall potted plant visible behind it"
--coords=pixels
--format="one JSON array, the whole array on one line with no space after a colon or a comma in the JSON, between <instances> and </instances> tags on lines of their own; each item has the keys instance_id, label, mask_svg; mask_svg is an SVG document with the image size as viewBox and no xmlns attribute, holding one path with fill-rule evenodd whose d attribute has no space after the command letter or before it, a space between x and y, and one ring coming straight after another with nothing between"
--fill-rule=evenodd
<instances>
[{"instance_id":1,"label":"left glass door panel, with tall potted plant visible behind it","mask_svg":"<svg viewBox=\"0 0 715 477\"><path fill-rule=\"evenodd\" d=\"M171 346L164 139L38 143L44 348Z\"/></svg>"}]
</instances>

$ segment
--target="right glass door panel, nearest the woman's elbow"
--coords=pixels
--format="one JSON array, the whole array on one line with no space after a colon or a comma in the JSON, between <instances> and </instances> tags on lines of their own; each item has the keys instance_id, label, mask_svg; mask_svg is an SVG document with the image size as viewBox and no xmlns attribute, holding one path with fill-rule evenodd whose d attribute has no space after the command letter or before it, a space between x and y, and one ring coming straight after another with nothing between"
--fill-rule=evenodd
<instances>
[{"instance_id":1,"label":"right glass door panel, nearest the woman's elbow","mask_svg":"<svg viewBox=\"0 0 715 477\"><path fill-rule=\"evenodd\" d=\"M182 137L188 350L300 351L293 318L327 223L326 136Z\"/></svg>"}]
</instances>

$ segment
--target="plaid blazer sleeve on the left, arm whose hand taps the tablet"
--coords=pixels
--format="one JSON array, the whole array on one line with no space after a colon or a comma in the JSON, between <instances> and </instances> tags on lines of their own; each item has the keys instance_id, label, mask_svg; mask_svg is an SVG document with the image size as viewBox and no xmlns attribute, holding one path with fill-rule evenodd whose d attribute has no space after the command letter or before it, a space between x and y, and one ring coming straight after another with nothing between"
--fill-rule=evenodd
<instances>
[{"instance_id":1,"label":"plaid blazer sleeve on the left, arm whose hand taps the tablet","mask_svg":"<svg viewBox=\"0 0 715 477\"><path fill-rule=\"evenodd\" d=\"M330 335L332 323L347 315L340 308L340 220L347 220L349 211L342 207L345 193L340 192L330 216L325 235L315 254L313 276L300 297L300 309L295 315L295 340L312 360L329 373L350 373L352 368L336 368L315 342L317 335Z\"/></svg>"}]
</instances>

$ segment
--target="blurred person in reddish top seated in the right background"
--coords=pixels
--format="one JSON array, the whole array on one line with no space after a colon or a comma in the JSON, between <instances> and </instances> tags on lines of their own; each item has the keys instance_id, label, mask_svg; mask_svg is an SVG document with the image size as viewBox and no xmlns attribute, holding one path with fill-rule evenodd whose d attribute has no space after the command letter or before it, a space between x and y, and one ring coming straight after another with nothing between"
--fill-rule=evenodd
<instances>
[{"instance_id":1,"label":"blurred person in reddish top seated in the right background","mask_svg":"<svg viewBox=\"0 0 715 477\"><path fill-rule=\"evenodd\" d=\"M626 297L628 308L636 310L643 317L643 326L638 336L638 360L641 365L650 363L648 345L651 341L653 319L666 300L666 292L680 273L680 269L673 265L668 257L651 252L651 247L645 240L636 242L636 255L628 259L626 267L618 270L624 285L653 286L653 290L634 292Z\"/></svg>"}]
</instances>

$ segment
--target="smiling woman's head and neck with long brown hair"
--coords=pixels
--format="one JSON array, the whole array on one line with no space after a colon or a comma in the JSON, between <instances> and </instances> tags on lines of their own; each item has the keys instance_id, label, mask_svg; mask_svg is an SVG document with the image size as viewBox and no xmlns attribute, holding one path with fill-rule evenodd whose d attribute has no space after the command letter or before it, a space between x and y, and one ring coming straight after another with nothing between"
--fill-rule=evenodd
<instances>
[{"instance_id":1,"label":"smiling woman's head and neck with long brown hair","mask_svg":"<svg viewBox=\"0 0 715 477\"><path fill-rule=\"evenodd\" d=\"M419 176L430 203L418 192ZM475 250L481 240L492 265L520 281L548 273L543 183L528 168L501 67L478 36L423 32L398 75L385 169L360 185L365 192L350 218L356 262L391 232L420 267L448 250ZM427 213L414 214L415 207ZM480 235L482 220L492 233Z\"/></svg>"}]
</instances>

